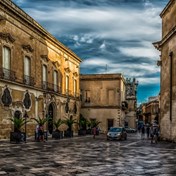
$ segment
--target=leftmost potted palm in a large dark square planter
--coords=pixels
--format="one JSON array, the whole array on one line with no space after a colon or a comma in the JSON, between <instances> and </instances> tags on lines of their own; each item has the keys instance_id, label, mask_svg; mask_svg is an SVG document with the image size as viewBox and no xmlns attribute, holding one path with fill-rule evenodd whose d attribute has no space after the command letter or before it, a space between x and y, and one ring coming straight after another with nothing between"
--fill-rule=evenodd
<instances>
[{"instance_id":1,"label":"leftmost potted palm in a large dark square planter","mask_svg":"<svg viewBox=\"0 0 176 176\"><path fill-rule=\"evenodd\" d=\"M10 132L10 142L15 141L16 143L26 140L26 134L21 131L23 125L29 121L22 117L12 117L9 120L14 124L14 131Z\"/></svg>"}]
</instances>

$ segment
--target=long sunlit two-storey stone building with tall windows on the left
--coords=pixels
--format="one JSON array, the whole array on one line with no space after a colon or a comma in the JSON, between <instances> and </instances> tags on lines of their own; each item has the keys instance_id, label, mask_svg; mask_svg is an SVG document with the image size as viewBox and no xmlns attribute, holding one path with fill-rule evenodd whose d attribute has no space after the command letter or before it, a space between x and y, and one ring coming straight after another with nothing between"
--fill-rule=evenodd
<instances>
[{"instance_id":1,"label":"long sunlit two-storey stone building with tall windows on the left","mask_svg":"<svg viewBox=\"0 0 176 176\"><path fill-rule=\"evenodd\" d=\"M0 1L0 138L13 116L79 117L81 59L10 0ZM65 106L68 106L67 112ZM27 135L34 135L34 122ZM66 127L62 127L63 130Z\"/></svg>"}]
</instances>

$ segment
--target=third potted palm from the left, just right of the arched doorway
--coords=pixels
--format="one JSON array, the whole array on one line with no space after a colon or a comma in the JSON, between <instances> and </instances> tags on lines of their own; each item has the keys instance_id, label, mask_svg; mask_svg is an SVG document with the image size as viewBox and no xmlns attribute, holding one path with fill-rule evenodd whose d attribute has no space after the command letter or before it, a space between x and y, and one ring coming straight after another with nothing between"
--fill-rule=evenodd
<instances>
[{"instance_id":1,"label":"third potted palm from the left, just right of the arched doorway","mask_svg":"<svg viewBox=\"0 0 176 176\"><path fill-rule=\"evenodd\" d=\"M56 121L54 121L54 127L55 127L55 131L53 131L52 133L52 138L54 139L61 139L63 138L63 132L59 130L59 127L63 124L63 120L61 119L57 119Z\"/></svg>"}]
</instances>

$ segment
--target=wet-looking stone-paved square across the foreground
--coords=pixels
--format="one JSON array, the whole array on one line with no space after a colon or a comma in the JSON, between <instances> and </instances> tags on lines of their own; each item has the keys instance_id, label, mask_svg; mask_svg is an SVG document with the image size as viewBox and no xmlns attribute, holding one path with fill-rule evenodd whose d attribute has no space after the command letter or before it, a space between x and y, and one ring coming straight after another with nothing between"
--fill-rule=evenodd
<instances>
[{"instance_id":1,"label":"wet-looking stone-paved square across the foreground","mask_svg":"<svg viewBox=\"0 0 176 176\"><path fill-rule=\"evenodd\" d=\"M0 175L176 175L176 145L150 144L138 134L127 141L100 135L25 144L0 143Z\"/></svg>"}]
</instances>

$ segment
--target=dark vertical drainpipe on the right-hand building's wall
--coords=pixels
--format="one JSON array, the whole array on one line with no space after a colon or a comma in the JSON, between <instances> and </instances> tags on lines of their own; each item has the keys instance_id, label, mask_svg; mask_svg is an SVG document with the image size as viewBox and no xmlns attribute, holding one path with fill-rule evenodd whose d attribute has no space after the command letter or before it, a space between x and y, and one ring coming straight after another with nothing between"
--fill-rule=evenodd
<instances>
[{"instance_id":1,"label":"dark vertical drainpipe on the right-hand building's wall","mask_svg":"<svg viewBox=\"0 0 176 176\"><path fill-rule=\"evenodd\" d=\"M170 57L170 121L172 121L172 64L173 64L173 52L169 53Z\"/></svg>"}]
</instances>

